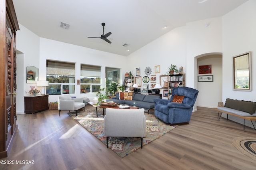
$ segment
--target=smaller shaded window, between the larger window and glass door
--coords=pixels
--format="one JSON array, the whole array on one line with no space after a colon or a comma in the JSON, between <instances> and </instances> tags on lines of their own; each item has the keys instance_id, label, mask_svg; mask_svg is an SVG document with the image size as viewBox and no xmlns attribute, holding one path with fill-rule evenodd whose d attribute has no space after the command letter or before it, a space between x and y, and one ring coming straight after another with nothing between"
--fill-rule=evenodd
<instances>
[{"instance_id":1,"label":"smaller shaded window, between the larger window and glass door","mask_svg":"<svg viewBox=\"0 0 256 170\"><path fill-rule=\"evenodd\" d=\"M100 91L101 67L81 64L80 93Z\"/></svg>"}]
</instances>

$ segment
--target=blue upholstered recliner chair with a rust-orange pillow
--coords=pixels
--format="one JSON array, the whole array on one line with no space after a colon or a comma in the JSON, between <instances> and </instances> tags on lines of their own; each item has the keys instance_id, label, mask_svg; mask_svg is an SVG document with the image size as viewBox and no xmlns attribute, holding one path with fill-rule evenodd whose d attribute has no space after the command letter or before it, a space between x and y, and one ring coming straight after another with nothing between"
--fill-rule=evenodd
<instances>
[{"instance_id":1,"label":"blue upholstered recliner chair with a rust-orange pillow","mask_svg":"<svg viewBox=\"0 0 256 170\"><path fill-rule=\"evenodd\" d=\"M184 96L182 103L172 102L174 95ZM176 87L172 89L170 99L154 99L155 116L171 125L187 124L192 115L198 90L190 87Z\"/></svg>"}]
</instances>

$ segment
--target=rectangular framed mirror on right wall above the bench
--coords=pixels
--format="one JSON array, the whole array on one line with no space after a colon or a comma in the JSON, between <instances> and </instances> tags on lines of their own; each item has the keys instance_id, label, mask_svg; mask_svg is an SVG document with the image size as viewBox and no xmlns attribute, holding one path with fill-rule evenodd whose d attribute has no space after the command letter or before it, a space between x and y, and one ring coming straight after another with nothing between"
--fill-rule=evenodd
<instances>
[{"instance_id":1,"label":"rectangular framed mirror on right wall above the bench","mask_svg":"<svg viewBox=\"0 0 256 170\"><path fill-rule=\"evenodd\" d=\"M233 90L252 91L251 52L232 57Z\"/></svg>"}]
</instances>

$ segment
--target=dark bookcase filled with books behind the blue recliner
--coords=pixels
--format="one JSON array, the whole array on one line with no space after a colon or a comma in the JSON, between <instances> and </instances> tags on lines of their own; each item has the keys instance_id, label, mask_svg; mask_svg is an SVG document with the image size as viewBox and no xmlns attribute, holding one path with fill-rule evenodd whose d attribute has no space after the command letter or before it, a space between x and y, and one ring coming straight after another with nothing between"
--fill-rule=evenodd
<instances>
[{"instance_id":1,"label":"dark bookcase filled with books behind the blue recliner","mask_svg":"<svg viewBox=\"0 0 256 170\"><path fill-rule=\"evenodd\" d=\"M168 97L175 87L185 86L185 73L168 75Z\"/></svg>"}]
</instances>

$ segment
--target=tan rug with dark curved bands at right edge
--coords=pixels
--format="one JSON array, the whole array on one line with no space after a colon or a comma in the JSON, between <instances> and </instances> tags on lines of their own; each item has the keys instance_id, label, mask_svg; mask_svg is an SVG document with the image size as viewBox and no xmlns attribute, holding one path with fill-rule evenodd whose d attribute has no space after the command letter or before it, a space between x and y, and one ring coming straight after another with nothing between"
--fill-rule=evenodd
<instances>
[{"instance_id":1,"label":"tan rug with dark curved bands at right edge","mask_svg":"<svg viewBox=\"0 0 256 170\"><path fill-rule=\"evenodd\" d=\"M233 145L243 154L256 160L256 138L239 137L233 139Z\"/></svg>"}]
</instances>

